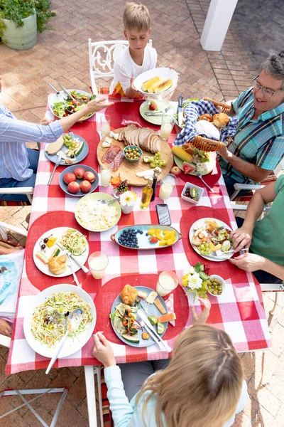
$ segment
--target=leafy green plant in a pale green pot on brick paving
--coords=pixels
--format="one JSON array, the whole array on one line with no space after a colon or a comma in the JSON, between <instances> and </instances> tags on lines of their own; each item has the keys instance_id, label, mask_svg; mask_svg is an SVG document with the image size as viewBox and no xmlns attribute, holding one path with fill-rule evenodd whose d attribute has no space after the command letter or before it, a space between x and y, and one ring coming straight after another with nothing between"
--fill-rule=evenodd
<instances>
[{"instance_id":1,"label":"leafy green plant in a pale green pot on brick paving","mask_svg":"<svg viewBox=\"0 0 284 427\"><path fill-rule=\"evenodd\" d=\"M0 41L13 49L35 46L37 31L55 16L49 0L0 0Z\"/></svg>"}]
</instances>

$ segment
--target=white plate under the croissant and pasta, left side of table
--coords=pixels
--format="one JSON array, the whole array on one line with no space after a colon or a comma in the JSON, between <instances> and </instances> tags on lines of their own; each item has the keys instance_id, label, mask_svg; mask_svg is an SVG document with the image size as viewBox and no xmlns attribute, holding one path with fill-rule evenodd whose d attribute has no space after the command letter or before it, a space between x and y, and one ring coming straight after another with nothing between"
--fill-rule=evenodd
<instances>
[{"instance_id":1,"label":"white plate under the croissant and pasta, left side of table","mask_svg":"<svg viewBox=\"0 0 284 427\"><path fill-rule=\"evenodd\" d=\"M66 230L68 230L68 228L72 228L72 227L57 227L57 228L52 228L51 230L45 231L45 233L43 233L43 235L40 236L40 238L38 238L38 241L35 243L35 246L33 248L33 260L34 260L35 265L38 267L38 270L40 270L42 273L44 273L46 275L50 275L53 278L64 278L65 276L72 274L70 267L68 267L68 265L67 265L65 272L62 274L53 274L53 273L51 273L50 269L48 268L48 264L44 264L43 261L41 261L39 258L37 258L35 256L35 253L37 253L38 251L40 252L40 244L43 243L43 241L42 241L42 243L40 243L40 241L43 240L45 237L49 237L52 234L53 236L57 237L58 240L55 241L55 244L51 248L48 248L48 246L46 246L45 252L43 252L43 253L47 258L49 258L52 255L55 248L58 248L58 246L56 245L56 242L60 241L61 236L65 233ZM60 249L60 255L63 255L63 253L64 252ZM77 256L76 259L82 265L84 265L84 263L87 261L88 255L89 255L89 245L87 242L86 251L84 251L84 253L82 253L82 255ZM79 265L77 265L77 263L75 263L75 261L72 260L72 258L71 258L71 263L72 263L73 270L75 272L80 270Z\"/></svg>"}]
</instances>

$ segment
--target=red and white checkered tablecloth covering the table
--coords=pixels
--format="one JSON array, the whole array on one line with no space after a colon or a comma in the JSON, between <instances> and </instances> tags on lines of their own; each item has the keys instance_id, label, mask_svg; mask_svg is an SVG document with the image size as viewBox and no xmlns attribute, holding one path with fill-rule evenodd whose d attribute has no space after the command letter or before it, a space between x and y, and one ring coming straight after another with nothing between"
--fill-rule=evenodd
<instances>
[{"instance_id":1,"label":"red and white checkered tablecloth covering the table","mask_svg":"<svg viewBox=\"0 0 284 427\"><path fill-rule=\"evenodd\" d=\"M107 114L111 115L111 128L115 129L119 127L121 120L125 118L126 120L136 120L142 125L157 129L158 127L148 124L141 118L138 113L139 106L140 102L116 100L115 105L109 107L107 111ZM97 170L99 167L96 151L100 139L100 117L104 113L99 112L90 120L77 123L72 127L72 132L84 137L89 144L89 154L82 163L88 164ZM172 144L174 140L175 129L172 135L170 135L169 144ZM75 211L78 201L77 197L67 196L58 185L59 176L64 167L58 167L52 184L47 186L52 170L53 164L46 159L43 147L40 151L31 223L26 246L26 260L19 289L15 327L13 328L6 374L13 374L29 369L43 369L48 366L49 362L49 359L36 354L29 347L23 334L23 317L33 300L33 296L50 285L62 283L62 278L47 278L47 276L35 268L32 259L32 250L35 241L37 241L38 237L44 231L48 231L48 229L55 226L76 226L78 229L81 229L72 214ZM178 178L178 185L173 191L172 196L166 201L170 209L172 226L178 231L182 229L184 233L182 240L170 248L157 251L133 251L119 247L110 239L111 234L123 226L158 223L155 204L163 203L163 201L157 196L155 201L151 203L150 208L142 211L139 209L141 187L133 187L133 191L136 191L138 196L136 205L131 214L122 214L117 226L102 233L86 233L84 231L89 241L90 253L93 251L103 251L109 256L109 265L106 275L102 280L95 280L92 278L92 275L89 273L85 275L82 270L78 272L78 276L82 282L82 288L94 298L94 304L98 313L97 328L98 330L104 330L106 336L111 340L117 362L136 362L139 360L163 359L168 357L167 353L158 352L155 345L138 349L124 345L115 336L109 324L108 314L114 297L118 295L122 286L126 283L131 283L132 285L141 284L155 288L158 274L163 270L175 271L181 280L183 270L190 264L194 265L197 260L208 263L210 273L219 273L226 280L226 292L222 295L222 298L210 296L212 310L208 320L209 324L228 332L238 352L271 347L268 323L263 309L261 288L256 280L253 280L253 275L235 268L229 261L222 263L207 262L192 250L188 242L189 228L197 218L214 216L229 223L231 228L236 228L224 180L222 175L219 174L219 166L217 165L212 174L204 178L208 180L211 186L214 186L214 193L207 191L207 188L197 177L184 176L182 174L182 178ZM199 206L188 204L181 199L180 194L185 185L185 181L182 179L191 181L193 184L202 187L204 186L204 194ZM96 191L110 194L111 186L99 186ZM64 283L72 283L72 276L64 278ZM189 303L192 303L192 295L187 298L184 290L179 287L174 297L174 310L177 314L176 325L175 327L169 325L167 335L165 335L165 339L167 339L168 344L172 348L176 334L186 325L191 325ZM195 302L195 305L197 306L197 311L201 310L198 301ZM59 359L55 363L55 367L96 364L96 359L92 357L92 346L93 342L90 339L76 354L66 359Z\"/></svg>"}]
</instances>

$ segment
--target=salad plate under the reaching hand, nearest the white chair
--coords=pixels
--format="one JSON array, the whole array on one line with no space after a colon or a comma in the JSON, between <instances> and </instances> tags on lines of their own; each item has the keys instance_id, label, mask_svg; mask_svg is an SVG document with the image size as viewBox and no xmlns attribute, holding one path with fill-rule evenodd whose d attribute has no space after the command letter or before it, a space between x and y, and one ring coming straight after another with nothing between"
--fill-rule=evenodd
<instances>
[{"instance_id":1,"label":"salad plate under the reaching hand, nearest the white chair","mask_svg":"<svg viewBox=\"0 0 284 427\"><path fill-rule=\"evenodd\" d=\"M85 104L97 97L97 95L90 95L89 93L84 92L84 90L72 89L68 90L68 92L72 95L73 98L75 98L75 102L71 97L67 97L63 91L60 92L60 95L52 93L48 97L48 106L50 111L53 112L53 114L59 119L73 114L73 112L81 110ZM89 117L92 117L92 115L94 115L94 112L87 116L81 117L81 119L78 121L83 122L84 120L89 119Z\"/></svg>"}]
</instances>

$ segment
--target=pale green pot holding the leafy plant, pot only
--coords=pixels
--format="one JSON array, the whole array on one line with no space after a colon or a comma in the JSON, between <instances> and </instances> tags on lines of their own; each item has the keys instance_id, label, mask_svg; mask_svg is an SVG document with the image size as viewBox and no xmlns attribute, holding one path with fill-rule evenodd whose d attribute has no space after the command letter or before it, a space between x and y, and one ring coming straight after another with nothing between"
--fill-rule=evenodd
<instances>
[{"instance_id":1,"label":"pale green pot holding the leafy plant, pot only","mask_svg":"<svg viewBox=\"0 0 284 427\"><path fill-rule=\"evenodd\" d=\"M3 41L11 49L23 51L35 46L37 38L36 14L23 19L23 26L16 28L10 19L1 19L6 26L3 32Z\"/></svg>"}]
</instances>

